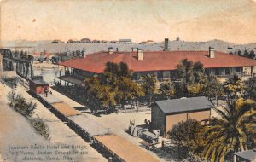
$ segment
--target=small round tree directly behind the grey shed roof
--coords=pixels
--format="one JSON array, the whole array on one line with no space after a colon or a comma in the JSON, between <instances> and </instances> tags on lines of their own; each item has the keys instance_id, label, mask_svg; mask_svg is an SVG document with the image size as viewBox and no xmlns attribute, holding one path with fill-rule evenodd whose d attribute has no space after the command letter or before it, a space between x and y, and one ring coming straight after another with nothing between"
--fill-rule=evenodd
<instances>
[{"instance_id":1,"label":"small round tree directly behind the grey shed roof","mask_svg":"<svg viewBox=\"0 0 256 162\"><path fill-rule=\"evenodd\" d=\"M166 81L160 84L160 95L165 99L170 99L175 94L174 84L171 81Z\"/></svg>"}]
</instances>

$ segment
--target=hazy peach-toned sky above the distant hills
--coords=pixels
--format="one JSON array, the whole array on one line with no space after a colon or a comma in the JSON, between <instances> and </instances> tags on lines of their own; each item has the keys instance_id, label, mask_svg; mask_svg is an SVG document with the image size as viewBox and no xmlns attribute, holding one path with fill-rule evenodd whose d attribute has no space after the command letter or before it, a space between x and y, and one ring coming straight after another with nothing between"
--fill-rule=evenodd
<instances>
[{"instance_id":1,"label":"hazy peach-toned sky above the distant hills","mask_svg":"<svg viewBox=\"0 0 256 162\"><path fill-rule=\"evenodd\" d=\"M0 0L0 39L256 42L256 0Z\"/></svg>"}]
</instances>

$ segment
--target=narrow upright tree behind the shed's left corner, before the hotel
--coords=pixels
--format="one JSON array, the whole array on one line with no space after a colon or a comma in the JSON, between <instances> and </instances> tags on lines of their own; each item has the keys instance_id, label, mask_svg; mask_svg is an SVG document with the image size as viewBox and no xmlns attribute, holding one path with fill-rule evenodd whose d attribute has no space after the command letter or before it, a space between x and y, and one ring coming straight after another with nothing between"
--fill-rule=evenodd
<instances>
[{"instance_id":1,"label":"narrow upright tree behind the shed's left corner, before the hotel","mask_svg":"<svg viewBox=\"0 0 256 162\"><path fill-rule=\"evenodd\" d=\"M142 89L145 95L148 97L148 105L151 104L152 98L156 93L156 77L154 74L143 75L141 78L143 81Z\"/></svg>"}]
</instances>

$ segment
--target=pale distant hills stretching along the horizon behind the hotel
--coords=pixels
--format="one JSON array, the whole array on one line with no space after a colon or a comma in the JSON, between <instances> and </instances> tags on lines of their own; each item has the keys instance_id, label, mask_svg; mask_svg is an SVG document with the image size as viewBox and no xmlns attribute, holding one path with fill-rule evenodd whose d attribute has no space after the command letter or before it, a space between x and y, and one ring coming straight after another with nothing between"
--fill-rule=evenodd
<instances>
[{"instance_id":1,"label":"pale distant hills stretching along the horizon behind the hotel","mask_svg":"<svg viewBox=\"0 0 256 162\"><path fill-rule=\"evenodd\" d=\"M153 44L119 44L119 43L51 43L51 41L15 41L13 43L2 42L8 44L9 47L12 45L20 45L28 47L30 52L49 52L49 53L63 53L63 52L72 52L76 50L86 49L86 54L98 52L98 51L108 51L108 47L113 47L114 49L119 48L119 51L131 51L132 47L138 47L144 51L152 50L163 50L164 42L153 43ZM223 52L237 52L240 50L247 49L248 51L256 51L256 43L247 43L247 44L236 44L224 42L221 40L211 40L207 42L186 42L186 41L169 41L170 50L208 50L209 46L213 47L215 50ZM10 48L11 49L11 48Z\"/></svg>"}]
</instances>

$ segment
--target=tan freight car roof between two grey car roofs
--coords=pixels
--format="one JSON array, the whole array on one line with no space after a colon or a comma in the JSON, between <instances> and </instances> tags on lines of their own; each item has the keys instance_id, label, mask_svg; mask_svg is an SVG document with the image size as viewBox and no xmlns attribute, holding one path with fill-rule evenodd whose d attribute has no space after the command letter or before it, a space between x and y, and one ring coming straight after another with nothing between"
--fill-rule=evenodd
<instances>
[{"instance_id":1,"label":"tan freight car roof between two grey car roofs","mask_svg":"<svg viewBox=\"0 0 256 162\"><path fill-rule=\"evenodd\" d=\"M81 114L79 111L75 110L73 107L70 107L64 102L53 103L52 106L66 117Z\"/></svg>"}]
</instances>

